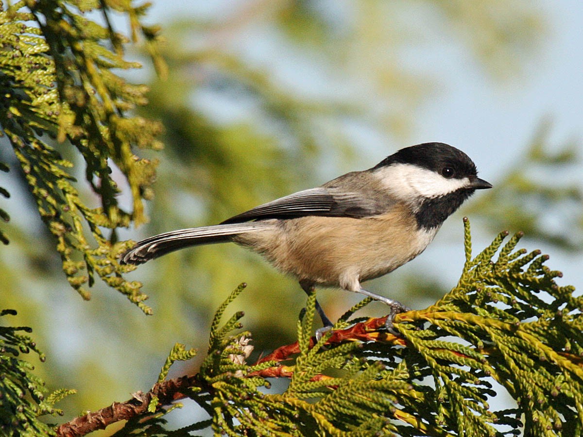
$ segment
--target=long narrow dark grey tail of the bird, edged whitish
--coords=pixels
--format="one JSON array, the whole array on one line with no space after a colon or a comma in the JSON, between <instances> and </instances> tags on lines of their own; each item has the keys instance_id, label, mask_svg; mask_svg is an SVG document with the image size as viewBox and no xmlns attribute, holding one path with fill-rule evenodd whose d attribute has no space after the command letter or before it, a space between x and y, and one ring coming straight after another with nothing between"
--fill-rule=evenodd
<instances>
[{"instance_id":1,"label":"long narrow dark grey tail of the bird, edged whitish","mask_svg":"<svg viewBox=\"0 0 583 437\"><path fill-rule=\"evenodd\" d=\"M202 244L228 242L232 241L237 235L265 230L266 227L268 225L261 222L245 222L166 232L138 242L121 256L120 262L122 264L142 264L178 249Z\"/></svg>"}]
</instances>

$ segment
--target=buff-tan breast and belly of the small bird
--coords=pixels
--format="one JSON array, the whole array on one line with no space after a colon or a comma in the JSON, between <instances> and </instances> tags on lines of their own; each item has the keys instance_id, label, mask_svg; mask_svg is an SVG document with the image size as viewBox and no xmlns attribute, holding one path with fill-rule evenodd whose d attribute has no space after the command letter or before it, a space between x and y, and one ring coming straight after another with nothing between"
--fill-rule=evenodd
<instances>
[{"instance_id":1,"label":"buff-tan breast and belly of the small bird","mask_svg":"<svg viewBox=\"0 0 583 437\"><path fill-rule=\"evenodd\" d=\"M348 290L415 258L437 233L437 228L419 230L405 209L368 218L307 216L273 224L269 232L238 242L300 280Z\"/></svg>"}]
</instances>

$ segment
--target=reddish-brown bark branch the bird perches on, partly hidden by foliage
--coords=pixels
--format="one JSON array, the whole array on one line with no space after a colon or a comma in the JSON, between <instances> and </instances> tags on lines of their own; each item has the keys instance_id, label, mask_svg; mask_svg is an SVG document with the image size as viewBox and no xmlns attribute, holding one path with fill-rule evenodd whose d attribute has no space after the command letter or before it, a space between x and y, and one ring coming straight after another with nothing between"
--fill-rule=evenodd
<instances>
[{"instance_id":1,"label":"reddish-brown bark branch the bird perches on, partly hidden by foliage","mask_svg":"<svg viewBox=\"0 0 583 437\"><path fill-rule=\"evenodd\" d=\"M343 341L382 341L391 344L400 344L405 346L406 341L401 337L396 337L388 332L380 332L385 326L386 317L378 319L368 319L366 322L356 323L347 329L334 331L326 344L338 344ZM310 347L315 344L315 338L310 340ZM255 364L261 364L266 361L284 361L289 360L292 355L299 353L298 344L288 344L277 348L271 354L262 357ZM286 365L277 365L258 372L249 373L248 376L261 376L262 378L289 378L293 375L293 367ZM321 375L322 378L326 378ZM317 378L318 379L318 378ZM181 376L180 378L166 380L157 383L147 393L134 393L132 399L119 403L114 402L111 406L101 408L94 413L87 413L81 417L76 417L70 422L62 424L57 428L59 437L80 437L97 429L105 429L108 425L114 424L120 420L129 420L138 415L147 415L148 406L154 396L158 398L157 408L169 405L173 401L184 399L189 394L189 387L200 385L196 380L196 375Z\"/></svg>"}]
</instances>

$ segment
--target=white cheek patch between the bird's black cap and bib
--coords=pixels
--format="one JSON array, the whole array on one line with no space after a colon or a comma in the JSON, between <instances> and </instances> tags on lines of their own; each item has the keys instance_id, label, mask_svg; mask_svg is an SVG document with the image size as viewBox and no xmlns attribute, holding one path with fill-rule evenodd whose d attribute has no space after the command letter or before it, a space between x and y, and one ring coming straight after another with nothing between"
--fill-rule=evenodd
<instances>
[{"instance_id":1,"label":"white cheek patch between the bird's black cap and bib","mask_svg":"<svg viewBox=\"0 0 583 437\"><path fill-rule=\"evenodd\" d=\"M446 179L434 171L412 164L391 164L378 168L374 173L391 195L403 200L437 198L470 184L468 178Z\"/></svg>"}]
</instances>

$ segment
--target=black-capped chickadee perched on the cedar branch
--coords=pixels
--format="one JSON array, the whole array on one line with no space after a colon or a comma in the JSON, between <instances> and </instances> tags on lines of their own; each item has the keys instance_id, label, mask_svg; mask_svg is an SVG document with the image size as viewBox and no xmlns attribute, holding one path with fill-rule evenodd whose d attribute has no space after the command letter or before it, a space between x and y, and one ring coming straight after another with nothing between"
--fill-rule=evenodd
<instances>
[{"instance_id":1,"label":"black-capped chickadee perched on the cedar branch","mask_svg":"<svg viewBox=\"0 0 583 437\"><path fill-rule=\"evenodd\" d=\"M235 242L265 256L310 292L340 287L407 308L360 283L401 267L425 250L445 219L476 189L492 188L476 165L444 143L406 147L373 168L273 200L213 226L147 238L122 255L141 264L201 244ZM325 326L332 323L317 310Z\"/></svg>"}]
</instances>

